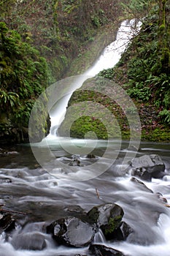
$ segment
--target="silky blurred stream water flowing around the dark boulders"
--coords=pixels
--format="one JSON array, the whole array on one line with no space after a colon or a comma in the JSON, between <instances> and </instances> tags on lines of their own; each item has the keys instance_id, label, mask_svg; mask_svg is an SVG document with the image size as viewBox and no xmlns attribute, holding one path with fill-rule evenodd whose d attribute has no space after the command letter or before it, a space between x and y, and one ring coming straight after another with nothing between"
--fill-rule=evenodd
<instances>
[{"instance_id":1,"label":"silky blurred stream water flowing around the dark boulders","mask_svg":"<svg viewBox=\"0 0 170 256\"><path fill-rule=\"evenodd\" d=\"M52 132L47 140L55 160L68 165L69 170L72 155L54 138L55 133ZM66 138L62 140L69 146ZM75 139L74 143L81 147L85 142ZM96 141L90 140L89 148L93 147L94 143ZM116 151L117 143L116 140L111 141L111 151ZM43 154L46 143L38 143L35 147ZM93 154L100 158L101 162L105 161L102 156L106 148L107 141L98 140L96 148L93 149ZM118 249L128 256L169 256L170 209L166 206L170 203L170 145L140 143L136 157L158 154L166 166L167 173L162 179L152 178L151 182L144 181L145 186L131 181L131 173L124 172L122 168L125 155L134 150L135 148L129 148L128 141L122 141L117 159L104 173L83 181L84 170L78 167L75 175L81 176L82 181L71 181L65 178L67 173L64 173L64 178L62 173L61 178L56 178L44 170L36 162L30 145L1 148L0 205L4 205L2 208L5 210L19 211L20 214L12 214L17 219L15 229L9 233L1 233L0 256L93 255L90 254L88 246L74 248L55 244L52 236L47 234L46 227L55 219L68 217L72 213L88 212L93 206L102 203L117 203L121 206L125 213L123 220L134 232L126 241L112 242L106 241L103 234L98 232L94 238L95 243ZM80 162L88 166L93 159L80 156ZM47 164L51 165L50 162ZM166 204L158 193L166 198Z\"/></svg>"}]
</instances>

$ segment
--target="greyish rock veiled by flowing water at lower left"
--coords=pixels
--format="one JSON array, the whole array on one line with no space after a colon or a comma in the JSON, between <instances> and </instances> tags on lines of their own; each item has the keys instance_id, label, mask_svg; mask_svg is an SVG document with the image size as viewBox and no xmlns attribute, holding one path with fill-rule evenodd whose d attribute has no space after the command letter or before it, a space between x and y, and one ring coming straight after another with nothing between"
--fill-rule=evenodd
<instances>
[{"instance_id":1,"label":"greyish rock veiled by flowing water at lower left","mask_svg":"<svg viewBox=\"0 0 170 256\"><path fill-rule=\"evenodd\" d=\"M12 239L15 249L42 250L46 247L45 237L38 232L21 233Z\"/></svg>"}]
</instances>

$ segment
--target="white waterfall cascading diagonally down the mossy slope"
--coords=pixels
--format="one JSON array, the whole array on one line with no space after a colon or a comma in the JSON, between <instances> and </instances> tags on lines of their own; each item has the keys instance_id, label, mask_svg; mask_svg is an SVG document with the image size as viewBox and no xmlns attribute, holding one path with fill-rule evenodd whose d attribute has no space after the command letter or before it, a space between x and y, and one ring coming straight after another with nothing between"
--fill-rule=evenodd
<instances>
[{"instance_id":1,"label":"white waterfall cascading diagonally down the mossy slope","mask_svg":"<svg viewBox=\"0 0 170 256\"><path fill-rule=\"evenodd\" d=\"M70 97L72 97L72 93L76 89L79 89L82 86L82 83L84 83L88 78L92 78L103 69L114 67L120 60L121 54L125 51L125 48L127 48L128 44L131 42L131 39L139 33L141 25L142 23L136 23L135 19L124 20L117 31L116 40L104 49L101 56L96 60L92 67L86 70L84 74L77 76L74 83L69 85L68 94L65 94L64 97L59 99L55 106L53 106L52 110L50 110L51 129L50 135L48 135L47 138L56 136L58 126L61 124L66 114L66 108ZM63 90L64 89L65 88L63 88Z\"/></svg>"}]
</instances>

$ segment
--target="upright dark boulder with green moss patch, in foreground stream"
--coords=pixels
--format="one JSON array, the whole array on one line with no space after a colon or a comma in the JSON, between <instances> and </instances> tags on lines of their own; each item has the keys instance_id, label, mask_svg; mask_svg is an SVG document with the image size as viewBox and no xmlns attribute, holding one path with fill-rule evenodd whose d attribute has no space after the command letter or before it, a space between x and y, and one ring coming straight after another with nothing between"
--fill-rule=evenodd
<instances>
[{"instance_id":1,"label":"upright dark boulder with green moss patch, in foreground stream","mask_svg":"<svg viewBox=\"0 0 170 256\"><path fill-rule=\"evenodd\" d=\"M96 223L101 228L107 239L116 239L119 236L122 225L123 208L115 203L105 203L95 206L88 212L90 222Z\"/></svg>"}]
</instances>

